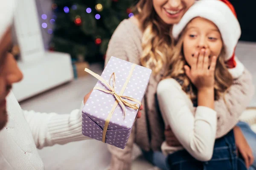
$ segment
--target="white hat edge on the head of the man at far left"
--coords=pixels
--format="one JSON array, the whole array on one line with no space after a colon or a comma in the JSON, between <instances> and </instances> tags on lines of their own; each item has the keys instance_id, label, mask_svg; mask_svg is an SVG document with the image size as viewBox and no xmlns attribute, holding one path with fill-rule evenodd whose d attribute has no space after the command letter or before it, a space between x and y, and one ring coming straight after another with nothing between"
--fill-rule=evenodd
<instances>
[{"instance_id":1,"label":"white hat edge on the head of the man at far left","mask_svg":"<svg viewBox=\"0 0 256 170\"><path fill-rule=\"evenodd\" d=\"M2 0L0 5L0 40L13 23L15 0Z\"/></svg>"}]
</instances>

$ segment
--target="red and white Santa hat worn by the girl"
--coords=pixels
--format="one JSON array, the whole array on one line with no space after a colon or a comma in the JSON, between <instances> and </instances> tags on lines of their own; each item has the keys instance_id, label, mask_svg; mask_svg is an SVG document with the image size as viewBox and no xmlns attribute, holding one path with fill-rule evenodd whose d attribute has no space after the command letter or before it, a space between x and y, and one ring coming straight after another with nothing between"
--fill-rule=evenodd
<instances>
[{"instance_id":1,"label":"red and white Santa hat worn by the girl","mask_svg":"<svg viewBox=\"0 0 256 170\"><path fill-rule=\"evenodd\" d=\"M177 40L186 25L195 17L212 21L218 27L226 51L225 61L230 74L239 77L244 65L235 57L237 42L241 36L241 28L236 11L228 0L198 0L184 14L179 23L172 28L172 35Z\"/></svg>"}]
</instances>

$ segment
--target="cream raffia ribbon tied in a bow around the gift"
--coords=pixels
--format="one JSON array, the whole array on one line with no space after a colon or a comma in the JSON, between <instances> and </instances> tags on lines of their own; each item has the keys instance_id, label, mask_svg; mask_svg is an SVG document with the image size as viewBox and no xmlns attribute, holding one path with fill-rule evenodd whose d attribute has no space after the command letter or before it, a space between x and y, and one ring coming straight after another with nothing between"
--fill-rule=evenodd
<instances>
[{"instance_id":1,"label":"cream raffia ribbon tied in a bow around the gift","mask_svg":"<svg viewBox=\"0 0 256 170\"><path fill-rule=\"evenodd\" d=\"M96 74L96 73L94 73L93 71L90 71L87 68L84 69L84 71L86 71L87 73L91 74L96 79L100 80L110 90L106 90L106 89L103 89L103 88L100 88L100 87L97 87L97 86L95 86L93 89L96 89L96 90L99 90L99 91L103 91L103 92L108 93L108 94L112 94L115 97L115 99L116 99L115 103L113 104L113 107L111 108L110 113L108 114L108 117L107 117L107 119L105 121L105 125L104 125L104 128L103 128L102 142L104 142L104 143L105 143L105 140L106 140L106 133L107 133L107 130L108 130L108 125L109 125L110 119L111 119L111 117L112 117L112 115L113 115L113 113L114 113L114 111L116 109L116 106L118 104L121 105L121 107L122 107L123 118L124 119L125 119L125 115L126 115L125 106L127 106L129 108L132 108L134 110L140 109L141 102L139 100L122 95L124 93L124 91L125 91L126 86L128 85L129 80L131 79L131 76L132 76L132 73L134 71L135 66L136 66L135 64L132 65L130 73L129 73L129 75L128 75L126 81L125 81L125 84L123 85L122 90L120 91L119 94L117 94L116 91L115 91L115 84L116 84L116 74L115 73L111 74L111 77L110 77L109 83L108 83L108 82L105 81L105 79L100 77L99 74ZM113 81L112 82L112 87L111 87L111 79ZM128 100L136 102L136 103L128 102L125 99L128 99ZM137 104L139 104L139 106Z\"/></svg>"}]
</instances>

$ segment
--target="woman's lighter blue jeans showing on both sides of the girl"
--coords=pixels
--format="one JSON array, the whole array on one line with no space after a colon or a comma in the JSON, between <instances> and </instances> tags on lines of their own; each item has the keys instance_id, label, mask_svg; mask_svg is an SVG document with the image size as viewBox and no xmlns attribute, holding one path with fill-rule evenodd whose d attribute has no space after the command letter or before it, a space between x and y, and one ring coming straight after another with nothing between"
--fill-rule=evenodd
<instances>
[{"instance_id":1,"label":"woman's lighter blue jeans showing on both sides of the girl","mask_svg":"<svg viewBox=\"0 0 256 170\"><path fill-rule=\"evenodd\" d=\"M253 150L253 156L256 159L256 133L254 133L250 126L245 122L239 122L237 124L244 134L245 139ZM160 151L143 151L143 155L145 159L154 164L154 166L159 167L161 170L168 170L168 164L166 164L166 156L163 155ZM249 168L249 170L256 170L256 161L254 161L253 166Z\"/></svg>"}]
</instances>

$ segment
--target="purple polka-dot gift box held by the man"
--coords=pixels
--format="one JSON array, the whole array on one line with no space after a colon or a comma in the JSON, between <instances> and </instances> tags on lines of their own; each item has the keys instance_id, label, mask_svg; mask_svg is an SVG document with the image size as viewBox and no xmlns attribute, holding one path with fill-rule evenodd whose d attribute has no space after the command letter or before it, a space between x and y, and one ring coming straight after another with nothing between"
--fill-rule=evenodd
<instances>
[{"instance_id":1,"label":"purple polka-dot gift box held by the man","mask_svg":"<svg viewBox=\"0 0 256 170\"><path fill-rule=\"evenodd\" d=\"M113 87L112 73L115 73L114 90L116 94L142 101L151 75L150 69L111 57L99 77L103 78L111 87ZM124 106L126 112L124 115L121 104L115 105L117 102L112 92L106 93L95 88L111 91L108 85L102 83L101 80L96 83L82 110L82 134L99 141L104 140L103 136L105 136L105 143L124 149L137 118L138 109L134 110L134 108ZM137 103L126 98L122 99L131 104ZM110 115L111 113L112 115ZM106 121L109 121L109 124L104 130Z\"/></svg>"}]
</instances>

